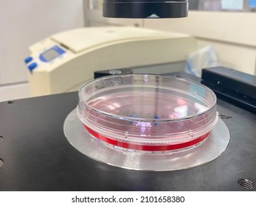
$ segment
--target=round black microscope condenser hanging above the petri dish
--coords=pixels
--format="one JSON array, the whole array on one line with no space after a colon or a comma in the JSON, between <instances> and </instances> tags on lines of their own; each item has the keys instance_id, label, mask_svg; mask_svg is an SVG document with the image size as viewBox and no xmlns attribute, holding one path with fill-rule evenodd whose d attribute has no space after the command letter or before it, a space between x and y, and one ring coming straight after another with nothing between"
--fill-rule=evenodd
<instances>
[{"instance_id":1,"label":"round black microscope condenser hanging above the petri dish","mask_svg":"<svg viewBox=\"0 0 256 206\"><path fill-rule=\"evenodd\" d=\"M181 18L187 11L187 0L103 0L103 16L110 18Z\"/></svg>"}]
</instances>

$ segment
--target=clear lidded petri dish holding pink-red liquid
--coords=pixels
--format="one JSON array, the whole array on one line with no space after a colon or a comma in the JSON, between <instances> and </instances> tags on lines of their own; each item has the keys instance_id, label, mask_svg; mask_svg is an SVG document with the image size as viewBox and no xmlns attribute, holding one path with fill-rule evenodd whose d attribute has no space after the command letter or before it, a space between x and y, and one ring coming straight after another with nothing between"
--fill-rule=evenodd
<instances>
[{"instance_id":1,"label":"clear lidded petri dish holding pink-red liquid","mask_svg":"<svg viewBox=\"0 0 256 206\"><path fill-rule=\"evenodd\" d=\"M153 74L101 77L79 90L77 116L89 137L131 152L182 152L210 138L216 96L198 82Z\"/></svg>"}]
</instances>

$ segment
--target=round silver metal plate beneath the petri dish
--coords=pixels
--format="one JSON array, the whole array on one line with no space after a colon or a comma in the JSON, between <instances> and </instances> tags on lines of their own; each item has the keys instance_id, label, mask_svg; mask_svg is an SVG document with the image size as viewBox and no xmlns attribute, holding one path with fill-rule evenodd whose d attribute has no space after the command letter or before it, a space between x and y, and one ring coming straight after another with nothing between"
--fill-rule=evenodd
<instances>
[{"instance_id":1,"label":"round silver metal plate beneath the petri dish","mask_svg":"<svg viewBox=\"0 0 256 206\"><path fill-rule=\"evenodd\" d=\"M221 118L204 143L184 152L149 154L106 146L91 138L77 117L76 109L66 117L64 134L79 152L101 163L141 171L175 171L201 166L220 156L229 145L230 133Z\"/></svg>"}]
</instances>

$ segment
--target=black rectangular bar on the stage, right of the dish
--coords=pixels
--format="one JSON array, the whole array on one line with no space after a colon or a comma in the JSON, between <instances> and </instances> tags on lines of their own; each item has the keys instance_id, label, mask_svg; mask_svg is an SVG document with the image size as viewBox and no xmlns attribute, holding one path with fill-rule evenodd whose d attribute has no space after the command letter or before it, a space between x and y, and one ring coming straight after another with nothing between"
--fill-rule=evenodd
<instances>
[{"instance_id":1,"label":"black rectangular bar on the stage, right of the dish","mask_svg":"<svg viewBox=\"0 0 256 206\"><path fill-rule=\"evenodd\" d=\"M232 68L204 68L201 81L227 102L256 113L256 77Z\"/></svg>"}]
</instances>

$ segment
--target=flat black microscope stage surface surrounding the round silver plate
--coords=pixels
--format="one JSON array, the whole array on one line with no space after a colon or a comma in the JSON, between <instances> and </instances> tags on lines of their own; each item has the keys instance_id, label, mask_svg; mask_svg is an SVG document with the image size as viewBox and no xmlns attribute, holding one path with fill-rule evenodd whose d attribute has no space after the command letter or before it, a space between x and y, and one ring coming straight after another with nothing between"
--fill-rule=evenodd
<instances>
[{"instance_id":1,"label":"flat black microscope stage surface surrounding the round silver plate","mask_svg":"<svg viewBox=\"0 0 256 206\"><path fill-rule=\"evenodd\" d=\"M63 134L77 92L0 103L0 191L246 191L256 182L256 115L218 99L224 154L180 171L133 171L89 159ZM255 189L253 189L255 191Z\"/></svg>"}]
</instances>

